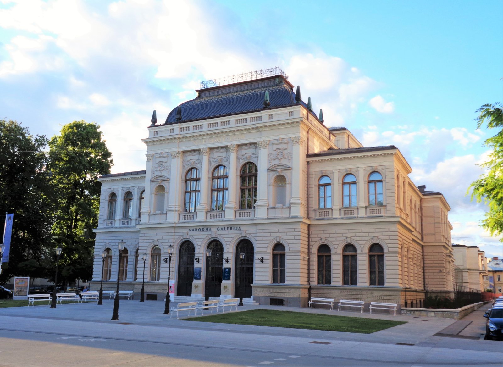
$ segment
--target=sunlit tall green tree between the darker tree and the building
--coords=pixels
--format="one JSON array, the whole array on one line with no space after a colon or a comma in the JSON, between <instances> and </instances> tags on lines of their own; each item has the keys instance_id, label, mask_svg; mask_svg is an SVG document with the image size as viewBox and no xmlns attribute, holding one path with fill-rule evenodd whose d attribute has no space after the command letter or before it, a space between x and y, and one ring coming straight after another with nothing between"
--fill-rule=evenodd
<instances>
[{"instance_id":1,"label":"sunlit tall green tree between the darker tree and the building","mask_svg":"<svg viewBox=\"0 0 503 367\"><path fill-rule=\"evenodd\" d=\"M101 184L98 176L110 173L112 154L102 140L100 126L84 120L64 125L49 141L49 164L58 208L52 227L61 253L65 281L91 279L93 249L98 226Z\"/></svg>"}]
</instances>

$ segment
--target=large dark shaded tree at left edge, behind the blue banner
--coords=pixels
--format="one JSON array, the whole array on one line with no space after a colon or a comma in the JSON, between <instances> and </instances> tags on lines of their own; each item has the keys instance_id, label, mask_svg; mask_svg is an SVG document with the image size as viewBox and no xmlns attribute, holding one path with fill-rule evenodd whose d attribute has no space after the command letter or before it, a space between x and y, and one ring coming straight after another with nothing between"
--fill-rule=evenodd
<instances>
[{"instance_id":1,"label":"large dark shaded tree at left edge, behind the blue banner","mask_svg":"<svg viewBox=\"0 0 503 367\"><path fill-rule=\"evenodd\" d=\"M14 213L11 251L0 283L12 276L45 277L52 269L51 226L55 208L45 170L47 139L16 121L0 119L0 223Z\"/></svg>"}]
</instances>

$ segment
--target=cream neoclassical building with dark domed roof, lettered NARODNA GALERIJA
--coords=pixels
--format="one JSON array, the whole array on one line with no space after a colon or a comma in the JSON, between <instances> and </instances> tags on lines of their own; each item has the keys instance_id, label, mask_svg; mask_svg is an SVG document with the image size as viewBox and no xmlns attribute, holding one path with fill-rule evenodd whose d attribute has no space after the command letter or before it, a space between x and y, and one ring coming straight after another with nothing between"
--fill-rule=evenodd
<instances>
[{"instance_id":1,"label":"cream neoclassical building with dark domed roof, lettered NARODNA GALERIJA","mask_svg":"<svg viewBox=\"0 0 503 367\"><path fill-rule=\"evenodd\" d=\"M412 183L396 146L326 127L279 68L202 82L145 130L145 171L100 178L93 288L103 268L105 289L119 276L121 289L144 283L147 300L163 299L173 246L175 301L403 307L426 288L452 291L444 196Z\"/></svg>"}]
</instances>

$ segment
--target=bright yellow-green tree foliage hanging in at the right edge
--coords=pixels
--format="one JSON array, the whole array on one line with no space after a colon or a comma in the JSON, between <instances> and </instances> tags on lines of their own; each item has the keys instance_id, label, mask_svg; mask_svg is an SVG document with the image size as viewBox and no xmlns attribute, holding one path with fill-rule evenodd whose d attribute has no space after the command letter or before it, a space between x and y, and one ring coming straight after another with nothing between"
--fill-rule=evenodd
<instances>
[{"instance_id":1,"label":"bright yellow-green tree foliage hanging in at the right edge","mask_svg":"<svg viewBox=\"0 0 503 367\"><path fill-rule=\"evenodd\" d=\"M501 107L501 103L485 104L476 111L479 115L475 119L477 128L486 124L488 129L499 129L495 135L484 141L484 145L492 149L489 160L481 165L487 168L487 172L470 185L472 199L489 205L482 227L489 230L491 236L503 233L503 109Z\"/></svg>"}]
</instances>

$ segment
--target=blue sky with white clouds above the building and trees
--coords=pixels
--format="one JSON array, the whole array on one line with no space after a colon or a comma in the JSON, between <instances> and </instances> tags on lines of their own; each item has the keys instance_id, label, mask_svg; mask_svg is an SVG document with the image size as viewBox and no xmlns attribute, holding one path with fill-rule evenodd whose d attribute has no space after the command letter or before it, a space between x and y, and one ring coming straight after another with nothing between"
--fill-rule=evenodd
<instances>
[{"instance_id":1,"label":"blue sky with white clouds above the building and trees","mask_svg":"<svg viewBox=\"0 0 503 367\"><path fill-rule=\"evenodd\" d=\"M503 256L466 197L503 102L503 1L0 0L0 117L48 137L96 121L113 172L145 167L159 120L201 80L280 66L325 124L397 145L416 185L444 193L453 242Z\"/></svg>"}]
</instances>

